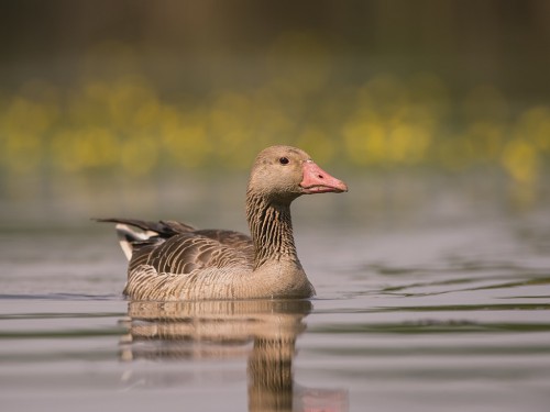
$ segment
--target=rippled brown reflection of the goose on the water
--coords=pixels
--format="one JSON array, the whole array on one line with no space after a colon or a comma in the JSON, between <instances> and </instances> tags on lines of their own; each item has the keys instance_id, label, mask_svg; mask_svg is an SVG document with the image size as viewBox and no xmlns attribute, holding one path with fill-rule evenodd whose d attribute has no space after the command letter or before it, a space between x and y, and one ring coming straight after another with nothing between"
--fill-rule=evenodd
<instances>
[{"instance_id":1,"label":"rippled brown reflection of the goose on the water","mask_svg":"<svg viewBox=\"0 0 550 412\"><path fill-rule=\"evenodd\" d=\"M121 359L248 358L249 411L345 411L342 390L298 387L307 300L130 302Z\"/></svg>"}]
</instances>

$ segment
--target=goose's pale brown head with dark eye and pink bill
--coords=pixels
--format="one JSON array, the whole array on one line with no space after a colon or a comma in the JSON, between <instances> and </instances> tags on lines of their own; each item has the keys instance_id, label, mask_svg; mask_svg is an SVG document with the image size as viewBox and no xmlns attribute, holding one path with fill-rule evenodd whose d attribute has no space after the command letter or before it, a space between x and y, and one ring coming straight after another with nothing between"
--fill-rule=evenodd
<instances>
[{"instance_id":1,"label":"goose's pale brown head with dark eye and pink bill","mask_svg":"<svg viewBox=\"0 0 550 412\"><path fill-rule=\"evenodd\" d=\"M301 194L340 193L348 186L322 170L304 151L271 146L262 151L252 167L249 192L276 203L290 203Z\"/></svg>"}]
</instances>

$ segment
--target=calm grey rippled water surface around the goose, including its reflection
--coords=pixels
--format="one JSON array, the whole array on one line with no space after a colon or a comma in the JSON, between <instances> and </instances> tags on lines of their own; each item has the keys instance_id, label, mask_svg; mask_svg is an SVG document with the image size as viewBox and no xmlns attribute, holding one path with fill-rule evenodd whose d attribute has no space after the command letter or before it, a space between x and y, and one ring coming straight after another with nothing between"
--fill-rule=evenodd
<instances>
[{"instance_id":1,"label":"calm grey rippled water surface around the goose, including its reflection","mask_svg":"<svg viewBox=\"0 0 550 412\"><path fill-rule=\"evenodd\" d=\"M100 208L4 216L2 411L547 411L548 198L399 181L296 204L311 301L129 302Z\"/></svg>"}]
</instances>

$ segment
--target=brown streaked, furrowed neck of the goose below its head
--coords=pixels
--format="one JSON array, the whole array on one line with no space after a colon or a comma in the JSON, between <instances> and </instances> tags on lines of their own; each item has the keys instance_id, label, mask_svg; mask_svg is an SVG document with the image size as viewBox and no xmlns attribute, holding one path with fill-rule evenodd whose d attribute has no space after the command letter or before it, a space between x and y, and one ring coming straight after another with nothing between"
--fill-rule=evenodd
<instances>
[{"instance_id":1,"label":"brown streaked, furrowed neck of the goose below its head","mask_svg":"<svg viewBox=\"0 0 550 412\"><path fill-rule=\"evenodd\" d=\"M290 260L300 266L294 244L289 202L270 202L249 188L246 219L254 243L254 269L278 260Z\"/></svg>"}]
</instances>

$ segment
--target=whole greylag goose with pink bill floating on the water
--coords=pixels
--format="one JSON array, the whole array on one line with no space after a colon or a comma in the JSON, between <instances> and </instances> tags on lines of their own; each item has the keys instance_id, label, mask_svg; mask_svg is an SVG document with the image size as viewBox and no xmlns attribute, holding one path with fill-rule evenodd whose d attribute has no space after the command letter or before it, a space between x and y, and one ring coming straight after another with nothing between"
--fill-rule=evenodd
<instances>
[{"instance_id":1,"label":"whole greylag goose with pink bill floating on the water","mask_svg":"<svg viewBox=\"0 0 550 412\"><path fill-rule=\"evenodd\" d=\"M174 221L99 221L117 223L130 260L124 293L133 300L310 298L315 289L296 254L290 203L301 194L344 191L348 186L306 152L272 146L257 155L249 179L251 236Z\"/></svg>"}]
</instances>

